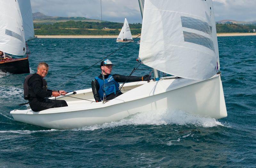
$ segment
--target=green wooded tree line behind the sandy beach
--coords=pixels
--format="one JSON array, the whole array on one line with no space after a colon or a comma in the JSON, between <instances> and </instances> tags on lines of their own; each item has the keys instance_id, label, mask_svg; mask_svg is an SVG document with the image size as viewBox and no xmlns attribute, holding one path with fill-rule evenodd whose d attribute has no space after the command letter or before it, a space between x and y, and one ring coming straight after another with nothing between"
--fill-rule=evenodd
<instances>
[{"instance_id":1,"label":"green wooded tree line behind the sandy beach","mask_svg":"<svg viewBox=\"0 0 256 168\"><path fill-rule=\"evenodd\" d=\"M34 23L36 35L118 35L123 23L67 21L54 24ZM141 23L129 24L131 33L141 33ZM112 30L103 30L103 28ZM250 33L256 25L216 24L217 33Z\"/></svg>"}]
</instances>

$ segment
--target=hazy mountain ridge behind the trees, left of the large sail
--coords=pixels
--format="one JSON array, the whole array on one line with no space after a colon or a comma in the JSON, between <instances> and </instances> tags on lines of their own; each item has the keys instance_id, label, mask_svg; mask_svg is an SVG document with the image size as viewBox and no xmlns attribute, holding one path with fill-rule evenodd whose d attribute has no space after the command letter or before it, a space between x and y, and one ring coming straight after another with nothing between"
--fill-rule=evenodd
<instances>
[{"instance_id":1,"label":"hazy mountain ridge behind the trees, left of the large sail","mask_svg":"<svg viewBox=\"0 0 256 168\"><path fill-rule=\"evenodd\" d=\"M56 22L66 22L70 20L82 22L101 22L98 19L88 19L84 17L60 17L60 16L47 16L41 12L32 13L34 23L52 24Z\"/></svg>"}]
</instances>

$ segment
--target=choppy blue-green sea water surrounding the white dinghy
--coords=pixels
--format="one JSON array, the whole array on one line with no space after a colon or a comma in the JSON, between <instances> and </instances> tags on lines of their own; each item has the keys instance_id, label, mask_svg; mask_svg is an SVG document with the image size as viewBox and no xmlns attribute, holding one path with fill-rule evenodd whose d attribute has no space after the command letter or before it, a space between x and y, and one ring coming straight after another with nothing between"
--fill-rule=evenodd
<instances>
[{"instance_id":1,"label":"choppy blue-green sea water surrounding the white dinghy","mask_svg":"<svg viewBox=\"0 0 256 168\"><path fill-rule=\"evenodd\" d=\"M115 39L36 39L30 68L50 65L49 88L58 86L122 46ZM10 111L25 103L27 74L0 73L0 167L256 167L256 36L219 37L228 117L220 120L182 111L149 111L120 121L54 130L16 122ZM129 75L139 45L109 57L113 73ZM141 68L147 68L142 65ZM143 75L150 70L140 70ZM90 88L99 65L62 88Z\"/></svg>"}]
</instances>

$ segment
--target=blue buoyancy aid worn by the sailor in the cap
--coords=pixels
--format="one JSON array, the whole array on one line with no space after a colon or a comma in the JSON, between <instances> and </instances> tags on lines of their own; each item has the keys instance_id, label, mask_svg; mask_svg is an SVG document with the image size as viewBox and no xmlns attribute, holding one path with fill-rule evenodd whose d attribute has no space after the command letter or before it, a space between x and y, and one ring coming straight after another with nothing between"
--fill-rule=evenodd
<instances>
[{"instance_id":1,"label":"blue buoyancy aid worn by the sailor in the cap","mask_svg":"<svg viewBox=\"0 0 256 168\"><path fill-rule=\"evenodd\" d=\"M100 95L100 99L103 100L103 94L104 94L104 88L106 96L119 91L119 83L116 82L113 75L108 75L108 78L105 79L105 87L104 87L104 80L100 79L99 77L95 77L95 79L98 81L100 88L98 90L98 93Z\"/></svg>"}]
</instances>

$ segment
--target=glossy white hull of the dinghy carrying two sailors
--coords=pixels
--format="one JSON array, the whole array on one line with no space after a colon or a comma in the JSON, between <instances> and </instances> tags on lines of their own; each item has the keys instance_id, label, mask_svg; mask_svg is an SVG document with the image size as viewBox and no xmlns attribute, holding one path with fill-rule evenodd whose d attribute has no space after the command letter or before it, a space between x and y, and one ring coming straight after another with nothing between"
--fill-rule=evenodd
<instances>
[{"instance_id":1,"label":"glossy white hull of the dinghy carrying two sailors","mask_svg":"<svg viewBox=\"0 0 256 168\"><path fill-rule=\"evenodd\" d=\"M227 116L220 75L203 81L175 78L131 82L126 83L123 90L124 94L105 104L60 96L60 100L67 101L68 107L39 112L13 110L11 114L16 121L54 129L109 123L138 112L160 109L181 110L216 119ZM76 92L72 97L93 100L92 89Z\"/></svg>"}]
</instances>

